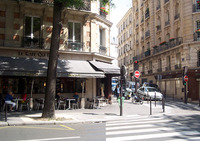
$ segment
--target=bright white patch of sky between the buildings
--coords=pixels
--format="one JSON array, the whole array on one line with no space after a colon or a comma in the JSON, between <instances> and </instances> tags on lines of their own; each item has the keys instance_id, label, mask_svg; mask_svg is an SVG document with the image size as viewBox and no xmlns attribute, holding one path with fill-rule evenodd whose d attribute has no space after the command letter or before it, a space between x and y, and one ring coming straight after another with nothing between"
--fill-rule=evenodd
<instances>
[{"instance_id":1,"label":"bright white patch of sky between the buildings","mask_svg":"<svg viewBox=\"0 0 200 141\"><path fill-rule=\"evenodd\" d=\"M132 7L132 0L113 0L113 3L115 7L111 8L110 11L110 21L113 23L111 37L117 37L118 29L116 26L126 12Z\"/></svg>"}]
</instances>

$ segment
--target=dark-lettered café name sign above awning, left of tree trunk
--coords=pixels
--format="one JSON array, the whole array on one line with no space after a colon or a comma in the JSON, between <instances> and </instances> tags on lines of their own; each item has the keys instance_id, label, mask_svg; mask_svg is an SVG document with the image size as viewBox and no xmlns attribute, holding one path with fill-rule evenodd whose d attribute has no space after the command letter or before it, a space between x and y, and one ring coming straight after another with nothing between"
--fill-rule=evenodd
<instances>
[{"instance_id":1,"label":"dark-lettered caf\u00e9 name sign above awning, left of tree trunk","mask_svg":"<svg viewBox=\"0 0 200 141\"><path fill-rule=\"evenodd\" d=\"M48 58L49 53L48 52L31 52L31 51L19 51L19 56L25 56L25 57L36 57L36 58Z\"/></svg>"}]
</instances>

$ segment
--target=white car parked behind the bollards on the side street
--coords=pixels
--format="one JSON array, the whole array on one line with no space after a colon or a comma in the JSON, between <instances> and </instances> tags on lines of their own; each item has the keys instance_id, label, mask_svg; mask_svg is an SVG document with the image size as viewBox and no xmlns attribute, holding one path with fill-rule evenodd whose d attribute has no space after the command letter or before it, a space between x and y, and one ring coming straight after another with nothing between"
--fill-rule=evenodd
<instances>
[{"instance_id":1,"label":"white car parked behind the bollards on the side street","mask_svg":"<svg viewBox=\"0 0 200 141\"><path fill-rule=\"evenodd\" d=\"M151 97L152 100L162 100L163 94L161 94L154 87L140 87L137 89L137 93L141 96L144 96L145 99L149 99Z\"/></svg>"}]
</instances>

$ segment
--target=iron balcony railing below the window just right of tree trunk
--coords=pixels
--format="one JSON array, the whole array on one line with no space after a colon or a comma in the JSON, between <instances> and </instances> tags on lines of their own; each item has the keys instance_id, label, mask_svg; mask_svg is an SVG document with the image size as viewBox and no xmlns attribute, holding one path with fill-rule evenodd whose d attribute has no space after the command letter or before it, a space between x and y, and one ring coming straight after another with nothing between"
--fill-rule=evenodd
<instances>
[{"instance_id":1,"label":"iron balcony railing below the window just right of tree trunk","mask_svg":"<svg viewBox=\"0 0 200 141\"><path fill-rule=\"evenodd\" d=\"M82 42L68 41L67 51L83 51L83 45L84 43Z\"/></svg>"}]
</instances>

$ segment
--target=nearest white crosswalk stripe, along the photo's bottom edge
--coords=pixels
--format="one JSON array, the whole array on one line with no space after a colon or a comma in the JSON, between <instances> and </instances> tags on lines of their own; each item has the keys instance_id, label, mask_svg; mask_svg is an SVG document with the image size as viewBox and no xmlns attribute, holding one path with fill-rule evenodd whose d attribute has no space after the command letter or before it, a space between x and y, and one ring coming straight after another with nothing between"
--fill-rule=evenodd
<instances>
[{"instance_id":1,"label":"nearest white crosswalk stripe, along the photo's bottom edge","mask_svg":"<svg viewBox=\"0 0 200 141\"><path fill-rule=\"evenodd\" d=\"M133 141L140 139L153 139L153 138L161 138L161 137L173 137L173 136L192 136L200 134L197 131L181 131L181 132L172 132L172 133L162 133L162 134L145 134L145 135L135 135L135 136L125 136L125 137L109 137L106 138L106 141Z\"/></svg>"}]
</instances>

